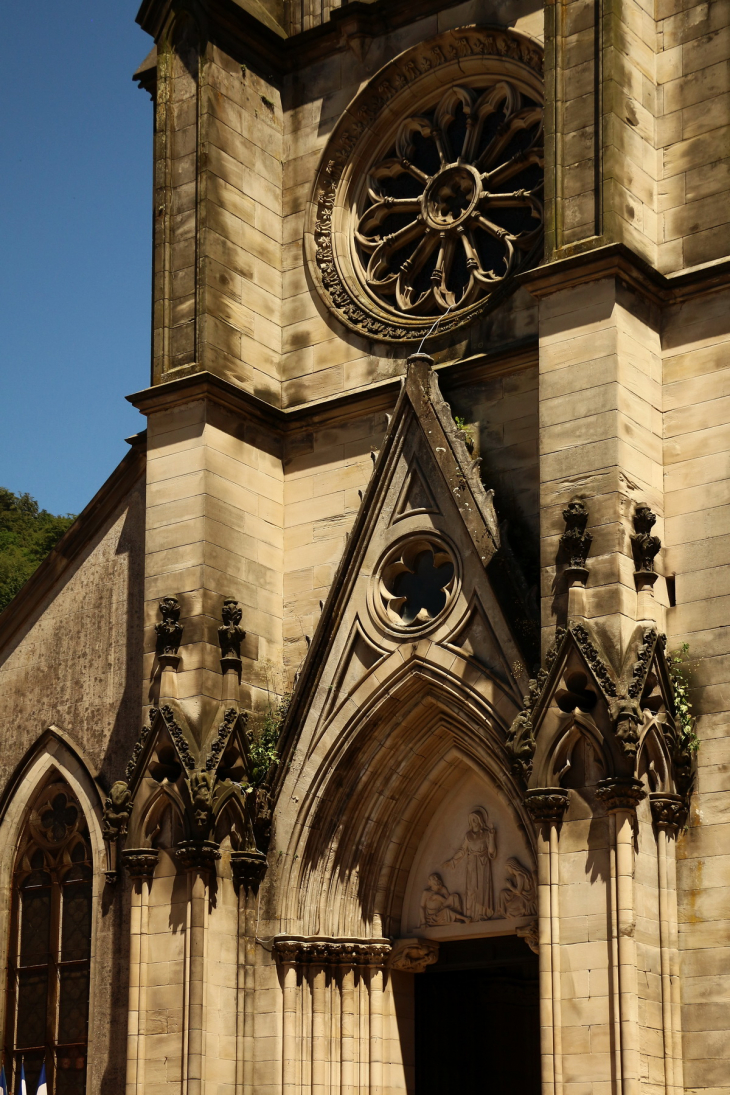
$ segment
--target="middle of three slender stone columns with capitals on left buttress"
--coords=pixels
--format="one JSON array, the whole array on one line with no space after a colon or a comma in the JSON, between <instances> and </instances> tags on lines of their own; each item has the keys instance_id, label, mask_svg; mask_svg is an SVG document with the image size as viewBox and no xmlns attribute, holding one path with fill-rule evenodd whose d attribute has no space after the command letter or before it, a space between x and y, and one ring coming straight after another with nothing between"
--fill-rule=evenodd
<instances>
[{"instance_id":1,"label":"middle of three slender stone columns with capitals on left buttress","mask_svg":"<svg viewBox=\"0 0 730 1095\"><path fill-rule=\"evenodd\" d=\"M208 878L220 858L218 845L210 840L188 840L175 849L178 863L188 875L187 1006L184 1044L186 1046L186 1095L204 1095L206 1056L206 929L208 920Z\"/></svg>"}]
</instances>

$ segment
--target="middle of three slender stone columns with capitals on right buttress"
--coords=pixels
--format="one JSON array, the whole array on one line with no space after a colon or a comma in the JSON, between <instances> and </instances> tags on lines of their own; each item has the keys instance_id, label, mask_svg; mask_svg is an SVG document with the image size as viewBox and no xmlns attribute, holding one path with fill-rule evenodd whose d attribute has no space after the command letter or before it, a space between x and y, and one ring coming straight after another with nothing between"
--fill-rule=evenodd
<instances>
[{"instance_id":1,"label":"middle of three slender stone columns with capitals on right buttress","mask_svg":"<svg viewBox=\"0 0 730 1095\"><path fill-rule=\"evenodd\" d=\"M615 942L617 971L622 1095L639 1095L641 1086L634 904L634 832L636 807L645 796L646 791L641 781L634 776L613 776L602 780L596 787L596 797L604 804L611 819L611 875L615 891L615 915L611 934Z\"/></svg>"}]
</instances>

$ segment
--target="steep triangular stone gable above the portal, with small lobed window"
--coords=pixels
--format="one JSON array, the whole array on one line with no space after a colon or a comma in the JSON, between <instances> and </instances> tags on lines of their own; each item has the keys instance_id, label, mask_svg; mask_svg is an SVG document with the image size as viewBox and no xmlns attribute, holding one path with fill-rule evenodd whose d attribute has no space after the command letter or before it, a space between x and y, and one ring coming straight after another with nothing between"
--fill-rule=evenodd
<instances>
[{"instance_id":1,"label":"steep triangular stone gable above the portal, with small lobed window","mask_svg":"<svg viewBox=\"0 0 730 1095\"><path fill-rule=\"evenodd\" d=\"M486 573L499 549L493 492L482 483L478 461L470 456L430 366L426 355L409 358L299 675L285 751L314 719L312 748L337 712L341 718L344 707L357 706L355 693L364 678L384 679L393 653L404 644L415 650L426 635L434 647L439 644L444 660L448 650L454 652L449 664L456 656L463 672L478 667L494 679L503 691L500 711L519 705L515 673L524 672L523 657ZM379 654L383 666L375 665ZM285 769L282 763L279 772Z\"/></svg>"}]
</instances>

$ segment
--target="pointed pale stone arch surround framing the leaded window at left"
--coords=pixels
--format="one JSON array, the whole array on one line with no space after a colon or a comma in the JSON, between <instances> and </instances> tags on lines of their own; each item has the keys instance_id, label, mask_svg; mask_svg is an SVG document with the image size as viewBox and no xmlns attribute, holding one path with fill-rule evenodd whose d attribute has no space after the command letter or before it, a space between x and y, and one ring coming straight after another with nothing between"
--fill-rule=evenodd
<instances>
[{"instance_id":1,"label":"pointed pale stone arch surround framing the leaded window at left","mask_svg":"<svg viewBox=\"0 0 730 1095\"><path fill-rule=\"evenodd\" d=\"M95 986L99 979L93 976L94 960L97 954L99 908L100 895L104 886L104 851L102 839L102 796L83 753L71 738L51 726L38 738L33 748L18 765L8 782L8 789L0 804L0 1030L5 1030L9 978L9 947L11 935L11 911L13 897L13 876L16 867L21 841L24 838L28 819L44 788L57 784L63 785L78 803L83 814L83 825L88 831L91 850L91 942L89 961L92 969L89 993L89 1042L88 1060L90 1065L95 1060L94 1049L94 1010Z\"/></svg>"}]
</instances>

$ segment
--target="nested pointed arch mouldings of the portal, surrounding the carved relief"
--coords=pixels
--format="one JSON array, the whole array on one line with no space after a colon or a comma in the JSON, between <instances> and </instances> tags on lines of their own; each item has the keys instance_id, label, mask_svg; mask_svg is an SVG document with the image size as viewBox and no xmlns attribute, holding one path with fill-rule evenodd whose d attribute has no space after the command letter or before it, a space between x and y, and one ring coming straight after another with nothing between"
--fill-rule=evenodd
<instances>
[{"instance_id":1,"label":"nested pointed arch mouldings of the portal, surrounding the carved relief","mask_svg":"<svg viewBox=\"0 0 730 1095\"><path fill-rule=\"evenodd\" d=\"M494 708L440 666L419 662L387 678L318 754L308 785L292 786L301 805L278 887L286 931L401 935L429 822L470 776L482 782L480 805L494 805L520 834L532 871L534 832L503 738Z\"/></svg>"}]
</instances>

